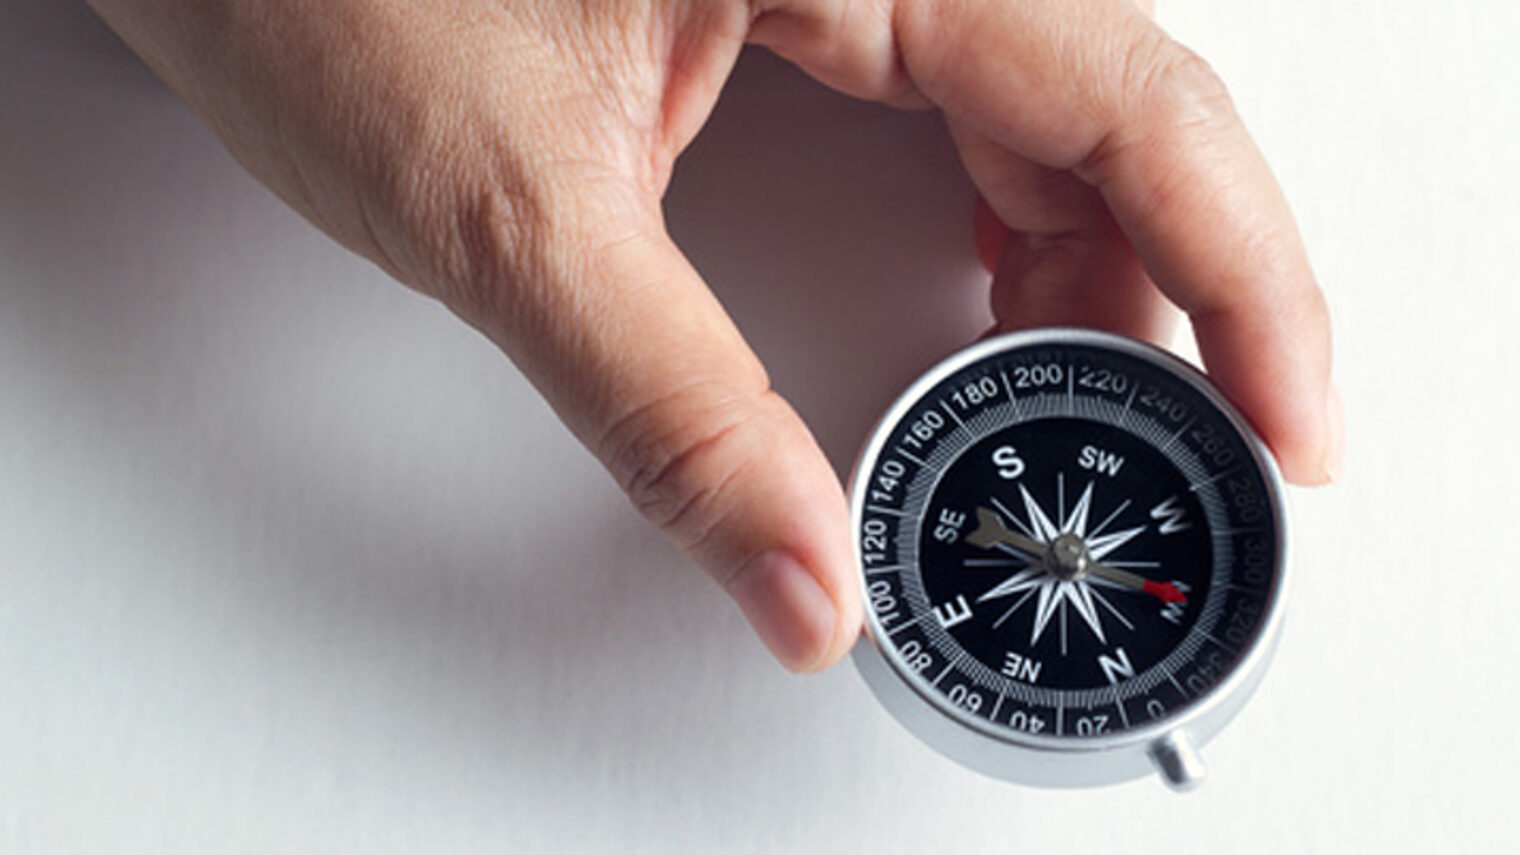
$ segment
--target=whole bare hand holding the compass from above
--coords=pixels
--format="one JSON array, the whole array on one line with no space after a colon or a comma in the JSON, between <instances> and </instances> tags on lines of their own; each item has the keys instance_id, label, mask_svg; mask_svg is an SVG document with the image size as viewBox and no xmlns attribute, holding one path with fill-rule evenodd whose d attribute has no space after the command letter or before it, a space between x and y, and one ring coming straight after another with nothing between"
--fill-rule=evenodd
<instances>
[{"instance_id":1,"label":"whole bare hand holding the compass from above","mask_svg":"<svg viewBox=\"0 0 1520 855\"><path fill-rule=\"evenodd\" d=\"M845 497L666 233L748 43L939 110L1003 330L1164 341L1298 484L1341 459L1330 326L1213 72L1129 0L91 0L318 228L489 336L793 671L854 642Z\"/></svg>"}]
</instances>

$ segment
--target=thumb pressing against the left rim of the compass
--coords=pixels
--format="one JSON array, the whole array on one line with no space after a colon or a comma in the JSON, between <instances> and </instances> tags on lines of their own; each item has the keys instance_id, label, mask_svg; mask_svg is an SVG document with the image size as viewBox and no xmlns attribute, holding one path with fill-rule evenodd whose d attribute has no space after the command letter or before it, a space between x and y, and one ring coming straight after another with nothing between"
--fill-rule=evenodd
<instances>
[{"instance_id":1,"label":"thumb pressing against the left rim of the compass","mask_svg":"<svg viewBox=\"0 0 1520 855\"><path fill-rule=\"evenodd\" d=\"M499 342L781 665L827 668L862 619L844 491L658 216L646 219L540 266L552 281L505 300Z\"/></svg>"}]
</instances>

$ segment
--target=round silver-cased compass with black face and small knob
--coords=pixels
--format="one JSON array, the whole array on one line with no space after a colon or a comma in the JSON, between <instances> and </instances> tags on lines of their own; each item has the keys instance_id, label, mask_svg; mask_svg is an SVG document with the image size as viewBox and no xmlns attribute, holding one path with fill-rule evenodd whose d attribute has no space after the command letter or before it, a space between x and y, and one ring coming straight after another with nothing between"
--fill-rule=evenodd
<instances>
[{"instance_id":1,"label":"round silver-cased compass with black face and small knob","mask_svg":"<svg viewBox=\"0 0 1520 855\"><path fill-rule=\"evenodd\" d=\"M856 665L994 777L1189 788L1271 657L1281 494L1181 359L1076 329L983 341L909 386L856 466Z\"/></svg>"}]
</instances>

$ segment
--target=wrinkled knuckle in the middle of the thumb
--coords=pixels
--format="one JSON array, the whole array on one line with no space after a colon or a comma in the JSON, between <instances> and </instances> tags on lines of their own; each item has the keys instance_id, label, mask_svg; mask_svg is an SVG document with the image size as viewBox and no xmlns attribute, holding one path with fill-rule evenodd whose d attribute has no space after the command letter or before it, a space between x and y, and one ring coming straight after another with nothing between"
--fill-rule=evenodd
<instances>
[{"instance_id":1,"label":"wrinkled knuckle in the middle of the thumb","mask_svg":"<svg viewBox=\"0 0 1520 855\"><path fill-rule=\"evenodd\" d=\"M634 507L689 551L701 551L734 513L734 490L762 438L754 403L693 386L617 420L597 447Z\"/></svg>"}]
</instances>

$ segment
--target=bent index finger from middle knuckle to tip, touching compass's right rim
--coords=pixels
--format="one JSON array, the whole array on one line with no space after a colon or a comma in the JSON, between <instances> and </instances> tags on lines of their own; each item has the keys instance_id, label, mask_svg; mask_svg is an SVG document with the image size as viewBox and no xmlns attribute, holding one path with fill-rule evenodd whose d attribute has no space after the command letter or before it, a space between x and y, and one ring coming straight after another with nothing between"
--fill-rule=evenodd
<instances>
[{"instance_id":1,"label":"bent index finger from middle knuckle to tip, touching compass's right rim","mask_svg":"<svg viewBox=\"0 0 1520 855\"><path fill-rule=\"evenodd\" d=\"M1214 382L1301 484L1339 466L1330 318L1292 213L1218 81L1181 58L1170 120L1125 116L1079 170L1193 319ZM1158 111L1160 113L1160 111ZM1128 129L1125 123L1128 122Z\"/></svg>"}]
</instances>

